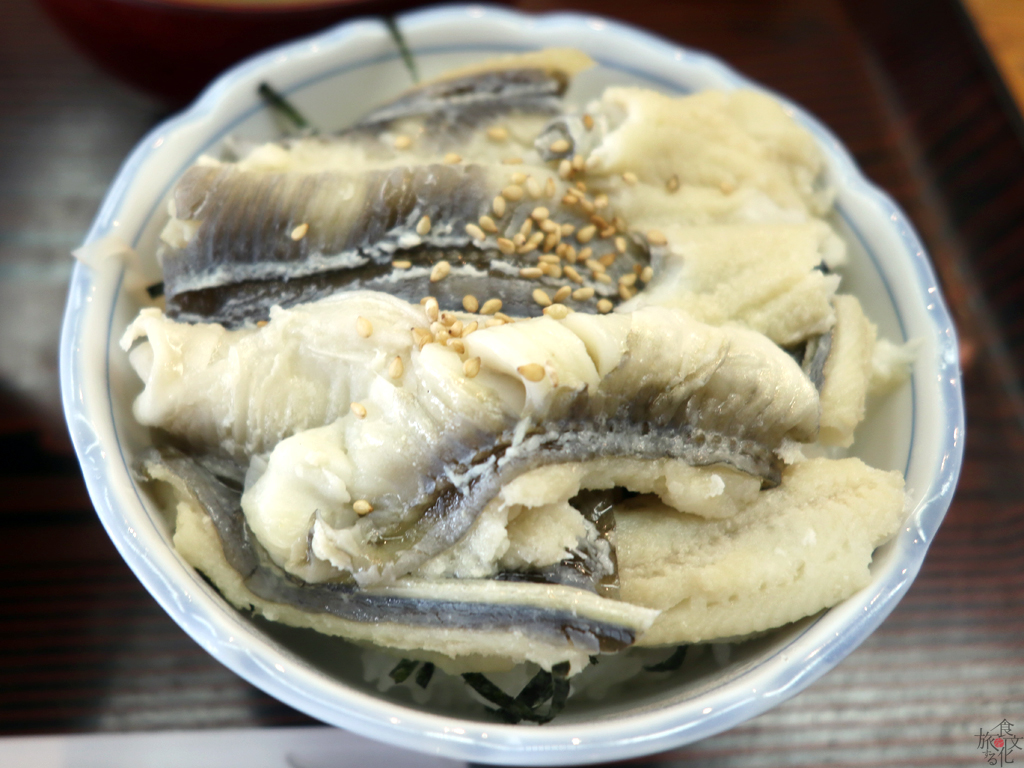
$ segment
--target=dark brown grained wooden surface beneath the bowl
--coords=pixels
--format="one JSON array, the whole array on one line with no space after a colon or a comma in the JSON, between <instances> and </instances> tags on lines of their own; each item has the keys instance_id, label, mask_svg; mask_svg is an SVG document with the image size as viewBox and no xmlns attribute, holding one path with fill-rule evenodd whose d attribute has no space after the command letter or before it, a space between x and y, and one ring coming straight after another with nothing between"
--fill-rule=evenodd
<instances>
[{"instance_id":1,"label":"dark brown grained wooden surface beneath the bowl","mask_svg":"<svg viewBox=\"0 0 1024 768\"><path fill-rule=\"evenodd\" d=\"M979 730L1024 731L1024 142L967 14L951 0L575 5L709 50L828 124L916 223L963 334L964 473L906 598L803 693L649 762L985 764ZM29 0L2 14L0 733L309 723L185 636L93 514L56 391L68 252L167 108Z\"/></svg>"}]
</instances>

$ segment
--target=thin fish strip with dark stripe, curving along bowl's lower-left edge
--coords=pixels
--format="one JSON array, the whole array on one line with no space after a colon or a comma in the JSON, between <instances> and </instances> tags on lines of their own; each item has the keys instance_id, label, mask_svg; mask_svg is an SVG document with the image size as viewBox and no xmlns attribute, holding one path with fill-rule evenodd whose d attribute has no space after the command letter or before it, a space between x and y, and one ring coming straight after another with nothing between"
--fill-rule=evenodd
<instances>
[{"instance_id":1,"label":"thin fish strip with dark stripe, curving along bowl's lower-left edge","mask_svg":"<svg viewBox=\"0 0 1024 768\"><path fill-rule=\"evenodd\" d=\"M232 604L271 621L372 642L403 654L470 657L477 669L569 660L631 645L657 611L558 585L406 580L359 590L300 584L267 558L239 495L194 460L151 452L143 470L176 498L174 545Z\"/></svg>"}]
</instances>

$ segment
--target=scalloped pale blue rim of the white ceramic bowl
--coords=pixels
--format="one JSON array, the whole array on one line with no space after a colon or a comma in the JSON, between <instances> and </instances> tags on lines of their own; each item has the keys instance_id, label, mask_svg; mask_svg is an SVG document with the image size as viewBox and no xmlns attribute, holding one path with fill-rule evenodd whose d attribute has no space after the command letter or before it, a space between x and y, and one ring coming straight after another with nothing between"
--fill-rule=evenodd
<instances>
[{"instance_id":1,"label":"scalloped pale blue rim of the white ceramic bowl","mask_svg":"<svg viewBox=\"0 0 1024 768\"><path fill-rule=\"evenodd\" d=\"M72 275L68 310L61 329L60 384L69 430L82 464L86 485L97 514L118 550L172 618L218 660L249 682L325 722L343 726L382 741L398 741L412 749L442 754L455 759L496 763L514 761L530 765L566 765L594 760L626 759L706 738L767 711L825 674L882 623L913 581L928 545L949 507L963 461L964 404L955 329L924 246L905 214L888 195L864 177L852 157L827 128L785 97L746 79L713 56L688 50L627 25L593 15L552 13L531 16L504 8L444 6L402 14L399 16L399 23L410 40L414 40L418 30L458 24L465 22L467 16L471 16L474 20L482 18L490 23L512 25L521 32L566 28L587 29L591 32L612 35L618 41L625 40L643 48L647 57L659 58L666 63L684 61L690 68L709 72L727 87L754 88L772 93L791 109L797 119L818 139L829 158L833 173L838 173L838 185L842 186L847 195L856 196L862 203L870 205L880 216L879 220L884 218L891 222L890 227L895 230L905 254L910 258L918 287L933 297L926 311L937 344L937 369L941 382L939 398L942 403L942 415L945 418L943 434L946 438L941 456L936 457L937 466L932 481L911 515L910 519L915 525L913 528L901 530L893 543L900 548L898 559L901 560L901 564L906 565L899 574L900 578L895 580L890 578L889 583L884 585L885 589L872 590L873 595L862 591L849 598L844 606L851 609L862 607L863 610L858 611L856 620L843 627L842 633L835 633L833 639L816 647L809 647L806 630L795 638L785 650L791 651L795 657L800 657L798 674L793 673L792 663L787 659L780 660L779 654L776 654L754 670L744 672L737 679L702 694L699 702L683 700L654 711L644 711L613 720L602 718L592 724L553 723L540 729L523 729L519 726L489 725L432 715L383 701L349 688L345 688L346 701L339 701L332 687L343 686L342 683L325 681L314 670L296 665L293 659L285 657L272 648L264 649L262 655L265 658L257 659L254 666L252 658L254 651L251 649L223 646L218 627L224 623L227 611L233 609L225 603L212 599L203 600L201 595L184 595L187 604L185 607L182 596L174 594L175 588L168 586L164 575L147 559L145 553L127 541L130 531L124 529L124 520L117 509L116 499L110 493L113 483L125 481L123 475L127 472L126 466L112 466L110 459L103 453L98 455L98 461L86 461L89 457L96 459L96 452L101 452L103 446L99 444L98 435L88 415L83 413L81 402L83 395L80 387L85 386L87 382L83 381L79 371L82 362L83 328L79 319L82 307L92 289L93 279L87 268L78 264ZM256 73L272 69L282 60L307 54L310 45L318 45L322 49L336 48L358 37L368 29L378 34L381 27L380 22L376 19L347 22L311 37L272 48L243 61L220 76L188 110L162 123L138 143L108 191L86 243L92 243L112 230L118 212L159 136L200 121L212 113L216 104L242 82L250 80ZM495 51L501 46L487 44L485 47ZM414 52L417 51L414 46ZM387 58L396 56L397 53ZM600 61L600 56L596 58ZM667 87L680 90L678 82L666 81L662 76L640 67L624 68L621 62L609 66L620 70L632 69L634 74L649 81L660 81ZM849 216L845 218L848 223L854 224ZM857 237L863 240L855 225L853 229ZM869 247L866 247L865 251L874 261L874 266L887 290L891 291L877 255ZM119 290L115 291L115 296ZM893 305L897 307L899 313L895 297ZM900 323L902 326L902 318ZM110 346L108 345L105 349L109 352ZM113 419L113 414L111 418ZM115 477L115 473L121 474ZM132 482L130 478L127 479ZM132 484L134 485L133 482ZM904 536L905 534L907 536ZM910 537L915 537L912 543L909 541ZM872 579L872 588L877 586L874 581L877 580ZM195 618L197 611L203 613L202 621L197 622ZM829 613L826 612L814 624L828 625L828 617ZM287 674L282 667L283 664L287 664L290 668ZM274 669L282 674L273 674L271 670ZM757 688L737 696L737 686L752 682L754 673L757 673ZM400 714L401 717L394 717L395 714ZM417 740L416 737L422 740Z\"/></svg>"}]
</instances>

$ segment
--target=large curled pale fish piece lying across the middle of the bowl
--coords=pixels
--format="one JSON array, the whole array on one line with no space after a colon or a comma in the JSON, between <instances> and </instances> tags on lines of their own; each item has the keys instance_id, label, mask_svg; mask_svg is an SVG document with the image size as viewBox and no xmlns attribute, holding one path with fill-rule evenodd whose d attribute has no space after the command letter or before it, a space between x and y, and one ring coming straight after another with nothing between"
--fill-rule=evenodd
<instances>
[{"instance_id":1,"label":"large curled pale fish piece lying across the middle of the bowl","mask_svg":"<svg viewBox=\"0 0 1024 768\"><path fill-rule=\"evenodd\" d=\"M813 384L750 331L651 308L520 321L476 331L461 340L461 352L437 343L418 349L409 326L401 328L400 304L346 294L234 332L140 317L123 340L147 338L131 353L147 383L136 418L240 458L273 446L265 479L250 487L254 497L274 486L275 464L290 476L322 462L302 456L326 455L342 503L333 519L303 522L322 526L322 542L331 545L322 558L364 585L409 573L451 547L504 484L537 467L677 459L729 465L772 484L782 441L817 433ZM359 317L381 334L359 336ZM427 322L421 314L410 326ZM183 349L207 353L187 365ZM404 360L398 379L385 371L395 356ZM378 374L366 376L374 371L367 359L377 360ZM472 378L467 360L479 361ZM322 407L305 406L333 402L339 411L339 397L356 401L359 413L329 420ZM300 451L275 462L290 451L282 438L319 426L310 423L315 417L331 430L334 458ZM255 429L246 434L240 425ZM344 496L374 511L355 519ZM276 511L270 504L267 514Z\"/></svg>"}]
</instances>

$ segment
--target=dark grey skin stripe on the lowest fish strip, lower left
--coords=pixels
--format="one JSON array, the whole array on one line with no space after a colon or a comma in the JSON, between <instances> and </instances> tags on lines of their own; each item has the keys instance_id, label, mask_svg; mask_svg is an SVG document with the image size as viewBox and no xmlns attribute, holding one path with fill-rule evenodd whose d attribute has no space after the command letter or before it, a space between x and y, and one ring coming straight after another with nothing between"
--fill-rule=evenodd
<instances>
[{"instance_id":1,"label":"dark grey skin stripe on the lowest fish strip, lower left","mask_svg":"<svg viewBox=\"0 0 1024 768\"><path fill-rule=\"evenodd\" d=\"M613 653L632 645L636 633L605 622L536 605L426 600L361 592L351 583L307 584L273 564L242 512L241 494L175 449L150 449L139 460L176 475L213 521L224 556L247 589L264 600L360 623L426 628L526 631L553 641Z\"/></svg>"}]
</instances>

